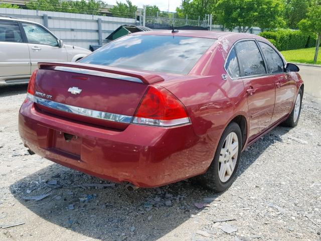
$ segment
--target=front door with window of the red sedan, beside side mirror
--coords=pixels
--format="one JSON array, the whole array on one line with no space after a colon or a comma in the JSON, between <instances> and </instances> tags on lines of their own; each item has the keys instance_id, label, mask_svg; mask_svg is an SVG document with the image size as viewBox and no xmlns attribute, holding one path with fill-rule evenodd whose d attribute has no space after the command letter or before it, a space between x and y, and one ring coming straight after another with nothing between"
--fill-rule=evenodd
<instances>
[{"instance_id":1,"label":"front door with window of the red sedan, beside side mirror","mask_svg":"<svg viewBox=\"0 0 321 241\"><path fill-rule=\"evenodd\" d=\"M270 77L275 84L275 107L271 122L277 122L291 111L295 82L285 72L284 62L280 55L268 44L258 42L265 57Z\"/></svg>"}]
</instances>

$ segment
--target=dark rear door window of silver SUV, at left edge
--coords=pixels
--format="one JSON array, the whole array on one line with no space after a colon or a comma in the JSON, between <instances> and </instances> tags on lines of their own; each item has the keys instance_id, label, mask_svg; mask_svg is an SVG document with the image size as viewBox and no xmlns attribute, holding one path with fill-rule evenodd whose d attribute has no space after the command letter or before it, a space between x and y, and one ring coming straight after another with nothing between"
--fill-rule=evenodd
<instances>
[{"instance_id":1,"label":"dark rear door window of silver SUV, at left edge","mask_svg":"<svg viewBox=\"0 0 321 241\"><path fill-rule=\"evenodd\" d=\"M0 41L22 43L22 36L17 22L0 21Z\"/></svg>"}]
</instances>

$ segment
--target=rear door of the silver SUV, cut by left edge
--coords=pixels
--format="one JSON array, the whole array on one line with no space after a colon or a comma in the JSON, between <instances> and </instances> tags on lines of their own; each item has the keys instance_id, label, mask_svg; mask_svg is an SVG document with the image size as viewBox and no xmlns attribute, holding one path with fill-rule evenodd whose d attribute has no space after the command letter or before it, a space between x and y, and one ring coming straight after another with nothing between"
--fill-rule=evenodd
<instances>
[{"instance_id":1,"label":"rear door of the silver SUV, cut by left edge","mask_svg":"<svg viewBox=\"0 0 321 241\"><path fill-rule=\"evenodd\" d=\"M30 75L30 54L17 21L0 20L0 77Z\"/></svg>"}]
</instances>

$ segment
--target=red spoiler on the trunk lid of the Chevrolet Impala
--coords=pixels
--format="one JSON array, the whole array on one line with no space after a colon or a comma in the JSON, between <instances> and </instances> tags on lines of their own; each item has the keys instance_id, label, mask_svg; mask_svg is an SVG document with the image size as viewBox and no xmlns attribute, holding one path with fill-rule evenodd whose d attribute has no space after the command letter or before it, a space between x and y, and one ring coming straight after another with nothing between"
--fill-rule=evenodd
<instances>
[{"instance_id":1,"label":"red spoiler on the trunk lid of the Chevrolet Impala","mask_svg":"<svg viewBox=\"0 0 321 241\"><path fill-rule=\"evenodd\" d=\"M129 77L134 77L140 79L145 84L153 84L156 82L164 81L164 78L162 76L156 75L156 74L149 74L145 72L139 72L135 70L129 70L129 69L120 69L120 68L114 68L109 66L101 66L101 65L93 65L93 64L79 64L79 63L56 63L56 62L40 62L38 63L39 69L44 69L48 67L56 67L56 66L62 66L62 67L70 67L70 68L80 68L80 69L88 69L88 70L95 70L105 73L111 73L111 74L119 74Z\"/></svg>"}]
</instances>

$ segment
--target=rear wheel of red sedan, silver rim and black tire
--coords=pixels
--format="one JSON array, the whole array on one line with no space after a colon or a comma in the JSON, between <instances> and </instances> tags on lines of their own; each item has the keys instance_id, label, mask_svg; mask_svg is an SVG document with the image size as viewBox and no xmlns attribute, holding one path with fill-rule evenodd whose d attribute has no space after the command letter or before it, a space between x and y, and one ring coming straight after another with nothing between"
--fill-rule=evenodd
<instances>
[{"instance_id":1,"label":"rear wheel of red sedan, silver rim and black tire","mask_svg":"<svg viewBox=\"0 0 321 241\"><path fill-rule=\"evenodd\" d=\"M229 188L235 179L241 146L241 129L236 123L231 123L223 132L209 169L197 177L198 182L215 192Z\"/></svg>"}]
</instances>

